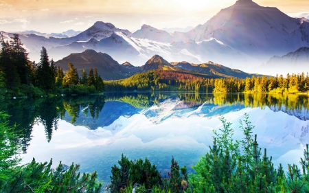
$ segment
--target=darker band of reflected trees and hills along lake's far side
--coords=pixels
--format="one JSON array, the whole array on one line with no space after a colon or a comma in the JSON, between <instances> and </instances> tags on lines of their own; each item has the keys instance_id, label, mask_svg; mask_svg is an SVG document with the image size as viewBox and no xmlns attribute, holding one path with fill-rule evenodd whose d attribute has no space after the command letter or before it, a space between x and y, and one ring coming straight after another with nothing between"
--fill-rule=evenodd
<instances>
[{"instance_id":1,"label":"darker band of reflected trees and hills along lake's far side","mask_svg":"<svg viewBox=\"0 0 309 193\"><path fill-rule=\"evenodd\" d=\"M168 101L173 103L167 106L165 103ZM32 139L32 127L36 123L43 124L46 139L50 141L59 119L93 130L109 126L121 116L131 117L141 111L153 123L159 124L172 116L210 117L246 107L265 106L299 120L309 120L308 95L106 93L104 96L7 100L1 102L0 109L10 115L10 125L16 124L16 132L21 133L21 144L26 152Z\"/></svg>"}]
</instances>

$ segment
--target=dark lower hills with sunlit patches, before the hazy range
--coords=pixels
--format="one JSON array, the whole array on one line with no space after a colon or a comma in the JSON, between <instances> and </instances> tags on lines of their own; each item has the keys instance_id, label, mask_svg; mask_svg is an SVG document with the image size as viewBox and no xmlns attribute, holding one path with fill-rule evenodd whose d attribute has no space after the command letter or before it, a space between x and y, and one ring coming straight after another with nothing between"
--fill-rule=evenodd
<instances>
[{"instance_id":1,"label":"dark lower hills with sunlit patches, before the hazy range","mask_svg":"<svg viewBox=\"0 0 309 193\"><path fill-rule=\"evenodd\" d=\"M190 64L187 62L168 63L167 60L159 55L152 56L152 58L150 58L145 63L145 65L142 65L141 67L135 67L128 62L120 65L108 54L95 52L92 49L87 49L84 52L78 54L70 54L61 60L58 60L56 62L56 66L59 66L66 71L69 69L68 63L72 63L74 67L78 69L79 74L81 74L82 69L89 73L91 68L98 68L98 73L103 80L118 80L122 78L128 78L135 73L147 72L150 70L174 71L203 78L246 78L253 75L259 76L257 74L245 73L240 70L230 69L210 61L201 65Z\"/></svg>"}]
</instances>

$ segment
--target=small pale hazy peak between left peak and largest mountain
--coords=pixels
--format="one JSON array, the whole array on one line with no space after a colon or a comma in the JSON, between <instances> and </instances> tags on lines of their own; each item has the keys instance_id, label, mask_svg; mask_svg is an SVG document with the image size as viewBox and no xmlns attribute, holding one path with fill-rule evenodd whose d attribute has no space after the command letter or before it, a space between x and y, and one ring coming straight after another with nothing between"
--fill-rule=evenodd
<instances>
[{"instance_id":1,"label":"small pale hazy peak between left peak and largest mountain","mask_svg":"<svg viewBox=\"0 0 309 193\"><path fill-rule=\"evenodd\" d=\"M151 41L159 41L159 42L174 42L174 38L168 32L163 30L158 30L155 27L151 27L150 25L141 26L141 30L137 30L131 35L133 38L146 38Z\"/></svg>"}]
</instances>

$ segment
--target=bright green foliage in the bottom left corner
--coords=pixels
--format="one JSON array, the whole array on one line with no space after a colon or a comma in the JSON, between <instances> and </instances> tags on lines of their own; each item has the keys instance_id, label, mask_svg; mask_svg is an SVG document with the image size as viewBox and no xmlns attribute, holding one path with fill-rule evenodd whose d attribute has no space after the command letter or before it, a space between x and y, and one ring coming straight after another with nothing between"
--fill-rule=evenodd
<instances>
[{"instance_id":1,"label":"bright green foliage in the bottom left corner","mask_svg":"<svg viewBox=\"0 0 309 193\"><path fill-rule=\"evenodd\" d=\"M22 146L19 134L9 127L7 115L0 112L0 192L99 192L102 183L97 172L80 174L80 166L65 166L61 162L56 169L49 163L20 165Z\"/></svg>"}]
</instances>

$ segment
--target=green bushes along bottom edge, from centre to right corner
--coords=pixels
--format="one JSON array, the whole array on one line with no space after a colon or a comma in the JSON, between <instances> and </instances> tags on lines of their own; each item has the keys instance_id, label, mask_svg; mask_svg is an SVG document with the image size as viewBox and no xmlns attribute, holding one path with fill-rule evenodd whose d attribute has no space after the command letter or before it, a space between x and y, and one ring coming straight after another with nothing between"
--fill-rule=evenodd
<instances>
[{"instance_id":1,"label":"green bushes along bottom edge, from centre to right corner","mask_svg":"<svg viewBox=\"0 0 309 193\"><path fill-rule=\"evenodd\" d=\"M244 137L233 139L231 124L221 117L223 128L214 130L214 144L194 166L194 174L187 174L172 159L169 177L157 178L155 166L143 162L128 161L122 156L119 166L112 168L111 192L131 192L133 184L141 183L137 192L308 192L309 149L304 150L301 168L288 165L285 172L280 165L274 168L272 158L258 146L254 126L245 115L240 122ZM144 167L144 165L148 167ZM136 170L136 165L139 166ZM152 175L150 175L152 174ZM139 181L137 181L139 179Z\"/></svg>"}]
</instances>

